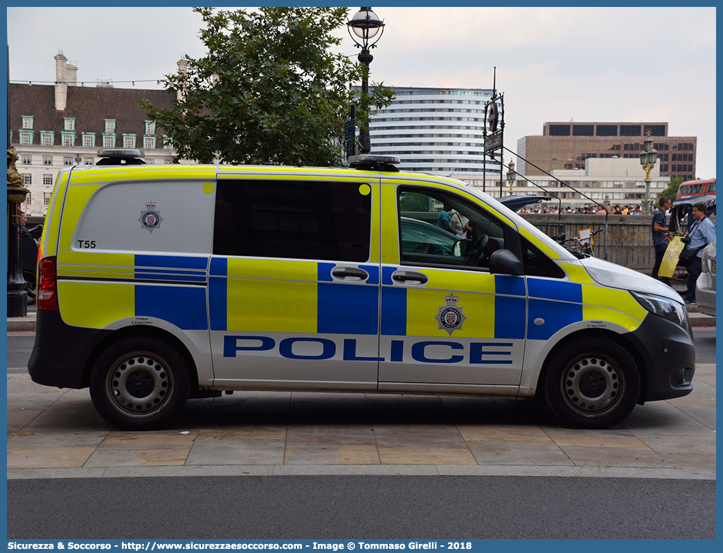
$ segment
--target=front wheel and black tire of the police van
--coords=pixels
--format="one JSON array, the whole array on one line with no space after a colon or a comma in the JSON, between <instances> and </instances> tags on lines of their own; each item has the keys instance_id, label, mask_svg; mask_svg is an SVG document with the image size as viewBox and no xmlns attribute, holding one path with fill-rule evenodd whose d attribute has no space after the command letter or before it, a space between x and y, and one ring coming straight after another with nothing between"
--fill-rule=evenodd
<instances>
[{"instance_id":1,"label":"front wheel and black tire of the police van","mask_svg":"<svg viewBox=\"0 0 723 553\"><path fill-rule=\"evenodd\" d=\"M573 428L607 429L630 415L638 402L640 373L635 360L610 339L570 342L545 366L545 402Z\"/></svg>"}]
</instances>

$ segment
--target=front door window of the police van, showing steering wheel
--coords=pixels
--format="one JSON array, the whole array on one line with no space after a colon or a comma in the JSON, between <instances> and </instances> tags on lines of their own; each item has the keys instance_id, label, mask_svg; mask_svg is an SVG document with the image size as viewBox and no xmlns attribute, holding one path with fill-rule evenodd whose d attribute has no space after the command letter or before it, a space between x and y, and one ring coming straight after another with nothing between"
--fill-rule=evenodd
<instances>
[{"instance_id":1,"label":"front door window of the police van, showing steering wheel","mask_svg":"<svg viewBox=\"0 0 723 553\"><path fill-rule=\"evenodd\" d=\"M401 187L398 214L402 264L487 269L505 248L502 224L453 194Z\"/></svg>"}]
</instances>

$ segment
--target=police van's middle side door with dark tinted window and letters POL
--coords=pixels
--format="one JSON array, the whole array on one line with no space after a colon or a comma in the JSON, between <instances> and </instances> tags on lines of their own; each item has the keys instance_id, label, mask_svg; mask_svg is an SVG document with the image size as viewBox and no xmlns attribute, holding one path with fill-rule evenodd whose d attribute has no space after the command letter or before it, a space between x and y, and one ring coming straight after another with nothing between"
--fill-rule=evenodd
<instances>
[{"instance_id":1,"label":"police van's middle side door with dark tinted window and letters POL","mask_svg":"<svg viewBox=\"0 0 723 553\"><path fill-rule=\"evenodd\" d=\"M377 190L351 177L218 180L208 287L217 384L376 388Z\"/></svg>"}]
</instances>

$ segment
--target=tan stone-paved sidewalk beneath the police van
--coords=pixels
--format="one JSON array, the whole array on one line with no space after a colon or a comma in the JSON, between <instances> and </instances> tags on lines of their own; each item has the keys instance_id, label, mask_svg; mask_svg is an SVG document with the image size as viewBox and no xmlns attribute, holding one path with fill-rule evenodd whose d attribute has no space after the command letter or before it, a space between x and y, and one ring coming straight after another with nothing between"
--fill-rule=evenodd
<instances>
[{"instance_id":1,"label":"tan stone-paved sidewalk beneath the police van","mask_svg":"<svg viewBox=\"0 0 723 553\"><path fill-rule=\"evenodd\" d=\"M87 389L7 380L8 478L462 474L714 479L716 366L693 394L636 406L605 431L531 402L235 392L190 400L173 429L127 432Z\"/></svg>"}]
</instances>

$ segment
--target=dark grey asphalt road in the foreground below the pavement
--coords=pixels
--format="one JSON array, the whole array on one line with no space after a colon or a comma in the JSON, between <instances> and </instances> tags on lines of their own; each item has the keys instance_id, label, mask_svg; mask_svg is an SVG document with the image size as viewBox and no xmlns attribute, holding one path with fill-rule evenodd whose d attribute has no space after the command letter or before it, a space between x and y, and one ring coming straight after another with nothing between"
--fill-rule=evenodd
<instances>
[{"instance_id":1,"label":"dark grey asphalt road in the foreground below the pavement","mask_svg":"<svg viewBox=\"0 0 723 553\"><path fill-rule=\"evenodd\" d=\"M714 539L716 483L531 476L9 480L9 539Z\"/></svg>"}]
</instances>

